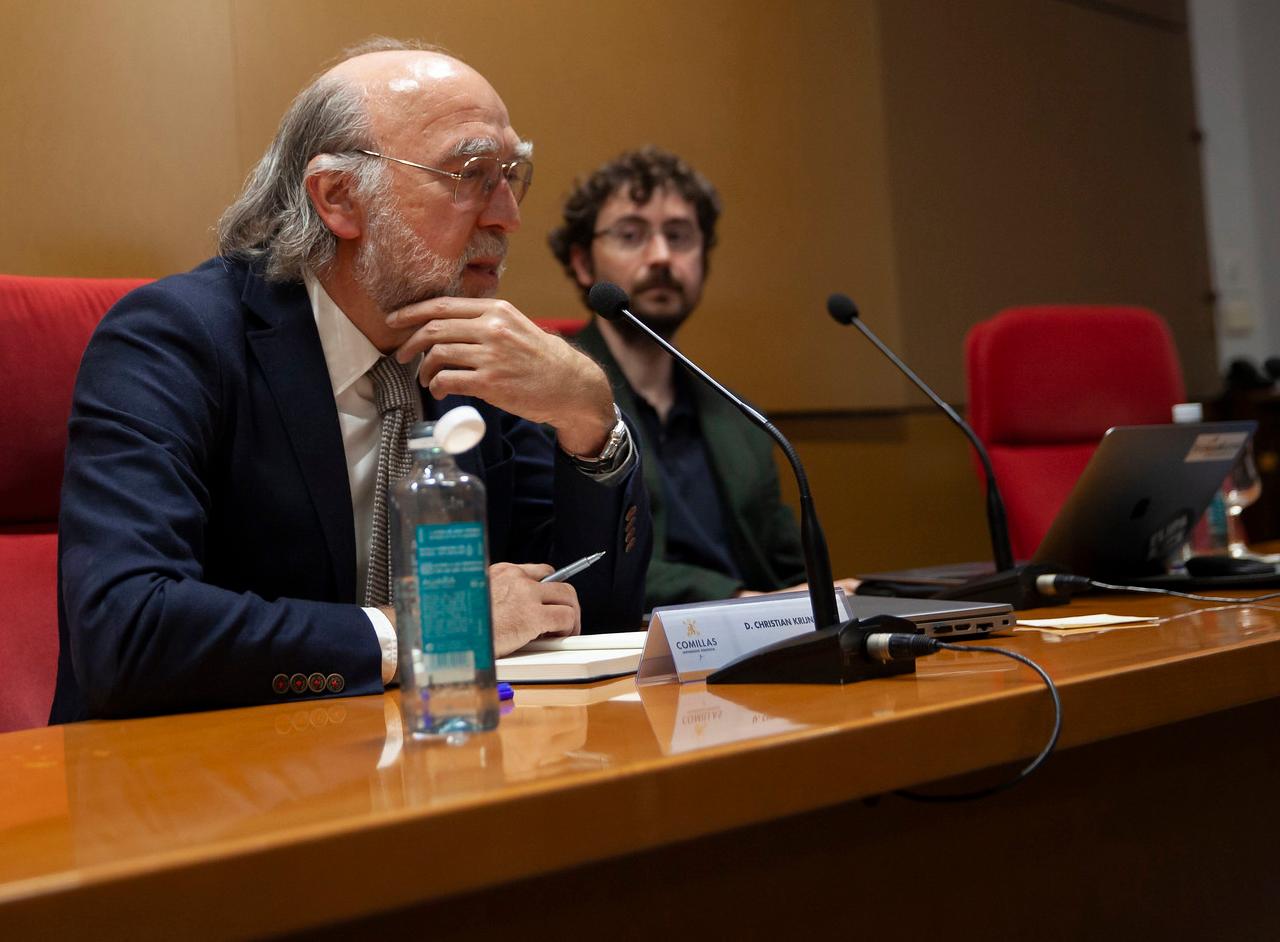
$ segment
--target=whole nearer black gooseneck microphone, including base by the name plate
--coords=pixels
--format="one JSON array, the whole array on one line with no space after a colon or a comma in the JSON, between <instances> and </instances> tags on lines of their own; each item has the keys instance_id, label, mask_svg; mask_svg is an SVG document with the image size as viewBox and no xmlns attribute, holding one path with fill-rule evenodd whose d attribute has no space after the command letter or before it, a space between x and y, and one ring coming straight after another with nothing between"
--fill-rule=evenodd
<instances>
[{"instance_id":1,"label":"whole nearer black gooseneck microphone, including base by the name plate","mask_svg":"<svg viewBox=\"0 0 1280 942\"><path fill-rule=\"evenodd\" d=\"M667 339L658 335L628 310L627 293L611 282L598 282L586 296L588 305L609 321L627 321L646 335L694 376L728 399L778 444L796 479L800 491L800 541L804 548L805 575L809 579L809 602L813 605L814 631L788 637L733 660L707 677L708 683L849 683L869 677L883 677L914 669L909 659L883 660L868 657L868 639L874 632L914 631L915 626L900 618L881 617L859 623L856 618L840 623L836 612L836 590L831 576L831 557L818 513L809 490L809 477L800 457L786 436L759 411L726 389Z\"/></svg>"}]
</instances>

